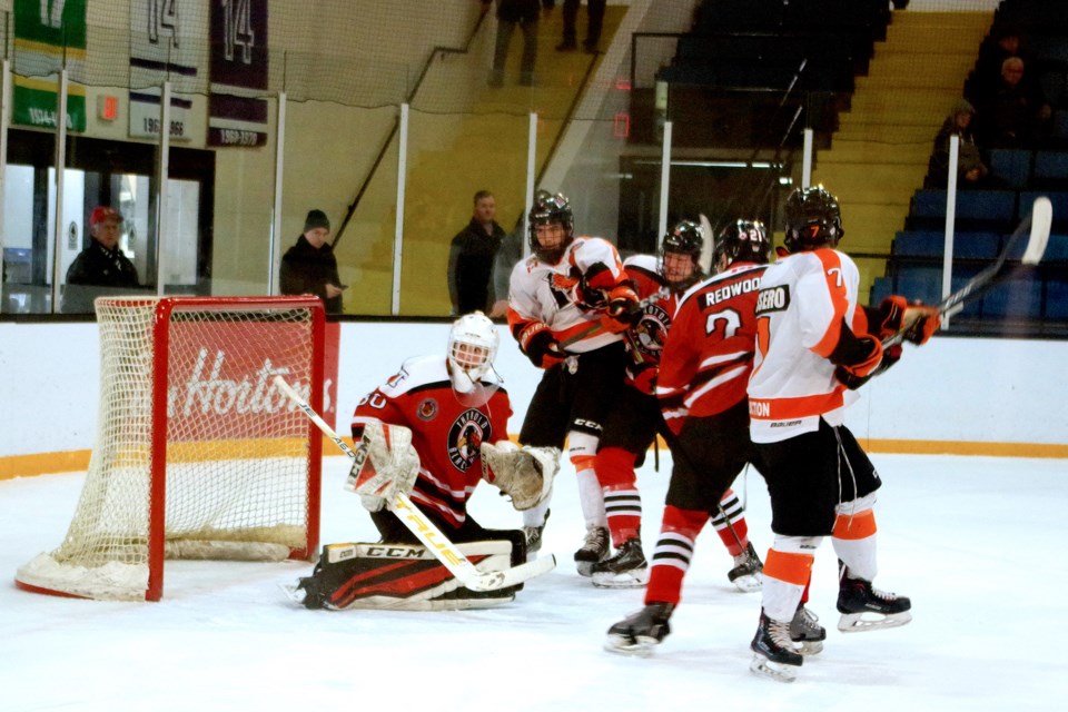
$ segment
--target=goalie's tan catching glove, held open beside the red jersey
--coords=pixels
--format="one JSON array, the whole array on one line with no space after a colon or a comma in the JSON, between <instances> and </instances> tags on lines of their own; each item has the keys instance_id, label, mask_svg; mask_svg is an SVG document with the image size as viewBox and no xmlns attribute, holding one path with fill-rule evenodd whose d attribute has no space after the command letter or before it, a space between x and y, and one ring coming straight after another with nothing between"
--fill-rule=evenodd
<instances>
[{"instance_id":1,"label":"goalie's tan catching glove, held open beside the red jersey","mask_svg":"<svg viewBox=\"0 0 1068 712\"><path fill-rule=\"evenodd\" d=\"M560 451L555 447L522 448L510 441L483 443L482 477L512 497L520 512L541 504L553 490L560 471Z\"/></svg>"}]
</instances>

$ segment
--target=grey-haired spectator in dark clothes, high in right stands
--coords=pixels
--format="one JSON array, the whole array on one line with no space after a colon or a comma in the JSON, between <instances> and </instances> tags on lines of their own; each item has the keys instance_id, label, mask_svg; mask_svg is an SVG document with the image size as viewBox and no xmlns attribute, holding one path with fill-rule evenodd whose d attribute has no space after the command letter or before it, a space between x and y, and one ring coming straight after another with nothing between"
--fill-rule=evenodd
<instances>
[{"instance_id":1,"label":"grey-haired spectator in dark clothes, high in right stands","mask_svg":"<svg viewBox=\"0 0 1068 712\"><path fill-rule=\"evenodd\" d=\"M1049 128L1052 109L1037 82L1025 81L1024 60L1001 63L1001 80L976 108L976 134L988 148L1035 148Z\"/></svg>"}]
</instances>

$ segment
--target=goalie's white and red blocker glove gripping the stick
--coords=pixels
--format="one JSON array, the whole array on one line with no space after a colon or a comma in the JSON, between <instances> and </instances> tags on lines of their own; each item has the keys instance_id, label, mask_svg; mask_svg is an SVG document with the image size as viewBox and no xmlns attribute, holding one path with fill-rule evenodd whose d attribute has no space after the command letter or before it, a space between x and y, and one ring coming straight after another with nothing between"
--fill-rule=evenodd
<instances>
[{"instance_id":1,"label":"goalie's white and red blocker glove gripping the stick","mask_svg":"<svg viewBox=\"0 0 1068 712\"><path fill-rule=\"evenodd\" d=\"M359 495L370 512L378 512L399 494L408 494L419 476L419 454L412 431L403 425L373 421L364 427L345 488Z\"/></svg>"}]
</instances>

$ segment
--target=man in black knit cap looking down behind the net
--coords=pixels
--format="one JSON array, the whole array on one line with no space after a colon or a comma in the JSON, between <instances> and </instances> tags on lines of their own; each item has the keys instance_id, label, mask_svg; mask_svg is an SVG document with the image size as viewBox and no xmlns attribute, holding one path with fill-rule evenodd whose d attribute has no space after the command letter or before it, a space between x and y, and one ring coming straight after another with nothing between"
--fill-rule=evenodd
<instances>
[{"instance_id":1,"label":"man in black knit cap looking down behind the net","mask_svg":"<svg viewBox=\"0 0 1068 712\"><path fill-rule=\"evenodd\" d=\"M328 314L340 314L345 286L337 275L334 248L326 241L329 235L330 220L326 214L308 210L304 234L281 258L279 280L281 294L314 294L323 299Z\"/></svg>"}]
</instances>

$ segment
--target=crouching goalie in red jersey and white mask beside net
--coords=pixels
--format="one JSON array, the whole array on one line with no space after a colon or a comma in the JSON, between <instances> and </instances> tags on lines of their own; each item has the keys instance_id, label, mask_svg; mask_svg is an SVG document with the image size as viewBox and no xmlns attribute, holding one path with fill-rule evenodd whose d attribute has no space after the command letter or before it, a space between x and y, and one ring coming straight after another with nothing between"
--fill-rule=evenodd
<instances>
[{"instance_id":1,"label":"crouching goalie in red jersey and white mask beside net","mask_svg":"<svg viewBox=\"0 0 1068 712\"><path fill-rule=\"evenodd\" d=\"M488 530L467 513L485 479L524 511L552 490L560 452L507 439L507 392L493 368L498 336L481 313L453 324L447 353L406 360L353 415L358 443L346 488L359 495L379 543L328 544L294 597L309 609L461 610L512 601L522 584L473 590L413 533L406 495L479 572L526 562L522 530ZM423 518L425 517L425 518Z\"/></svg>"}]
</instances>

